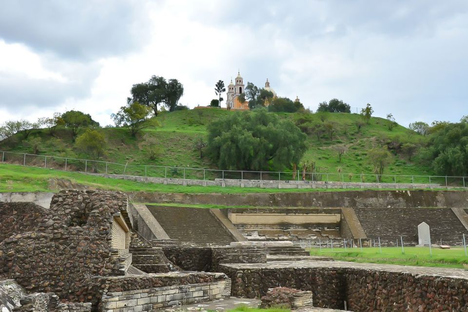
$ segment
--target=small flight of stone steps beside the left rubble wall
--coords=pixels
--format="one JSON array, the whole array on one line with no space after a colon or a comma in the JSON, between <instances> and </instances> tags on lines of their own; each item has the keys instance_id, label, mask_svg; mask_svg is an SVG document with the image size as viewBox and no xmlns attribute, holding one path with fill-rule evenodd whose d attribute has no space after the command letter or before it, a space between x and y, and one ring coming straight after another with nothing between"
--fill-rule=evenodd
<instances>
[{"instance_id":1,"label":"small flight of stone steps beside the left rubble wall","mask_svg":"<svg viewBox=\"0 0 468 312\"><path fill-rule=\"evenodd\" d=\"M135 247L130 249L132 266L145 273L167 273L171 271L161 248Z\"/></svg>"}]
</instances>

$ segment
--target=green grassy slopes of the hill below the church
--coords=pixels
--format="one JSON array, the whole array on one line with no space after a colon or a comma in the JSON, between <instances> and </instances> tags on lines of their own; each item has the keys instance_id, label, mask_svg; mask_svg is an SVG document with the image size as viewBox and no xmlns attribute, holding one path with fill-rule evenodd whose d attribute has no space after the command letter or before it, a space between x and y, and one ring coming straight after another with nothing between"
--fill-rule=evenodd
<instances>
[{"instance_id":1,"label":"green grassy slopes of the hill below the church","mask_svg":"<svg viewBox=\"0 0 468 312\"><path fill-rule=\"evenodd\" d=\"M194 109L188 111L176 111L159 114L147 121L146 127L137 137L131 137L124 128L102 128L99 131L104 134L108 142L108 155L105 160L120 164L147 164L179 166L185 168L211 168L216 169L207 157L200 158L197 151L193 149L194 141L200 137L206 139L207 125L227 114L235 114L219 109ZM299 113L276 113L280 118L290 119L297 123L297 120L304 115ZM402 138L417 140L419 135L413 131L400 126L390 131L387 120L372 117L370 124L363 125L358 131L355 122L362 120L357 114L344 113L321 113L308 114L309 122L332 122L335 132L333 140L327 133L320 139L315 134L308 135L308 151L302 161L315 161L321 172L337 173L338 168L346 176L353 174L371 174L372 166L367 159L367 152L372 148L382 144L381 142ZM322 121L323 119L323 121ZM160 126L155 126L159 123ZM160 142L160 154L155 160L150 160L142 146L142 137L145 135L156 137ZM55 137L48 135L46 130L35 130L27 139L22 138L22 134L17 134L10 139L0 142L1 151L14 151L21 153L33 152L33 140L41 138L39 154L81 157L89 156L80 154L74 149L71 131L59 129ZM345 145L348 149L342 161L338 162L335 145ZM406 157L395 154L385 174L394 175L431 175L431 169L424 165L416 155L411 161ZM355 178L354 178L355 180Z\"/></svg>"}]
</instances>

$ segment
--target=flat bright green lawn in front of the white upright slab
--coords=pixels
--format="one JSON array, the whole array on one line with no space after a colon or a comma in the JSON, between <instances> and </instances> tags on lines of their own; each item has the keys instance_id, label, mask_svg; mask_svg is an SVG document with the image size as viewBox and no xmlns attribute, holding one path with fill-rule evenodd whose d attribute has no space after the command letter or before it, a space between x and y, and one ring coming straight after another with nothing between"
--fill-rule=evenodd
<instances>
[{"instance_id":1,"label":"flat bright green lawn in front of the white upright slab","mask_svg":"<svg viewBox=\"0 0 468 312\"><path fill-rule=\"evenodd\" d=\"M335 260L353 261L361 263L384 263L399 264L423 267L445 267L464 269L468 267L468 257L461 247L451 249L432 248L432 255L429 254L429 247L405 247L405 254L402 254L401 247L382 247L382 253L378 247L363 248L362 253L359 248L312 248L311 255L330 256Z\"/></svg>"}]
</instances>

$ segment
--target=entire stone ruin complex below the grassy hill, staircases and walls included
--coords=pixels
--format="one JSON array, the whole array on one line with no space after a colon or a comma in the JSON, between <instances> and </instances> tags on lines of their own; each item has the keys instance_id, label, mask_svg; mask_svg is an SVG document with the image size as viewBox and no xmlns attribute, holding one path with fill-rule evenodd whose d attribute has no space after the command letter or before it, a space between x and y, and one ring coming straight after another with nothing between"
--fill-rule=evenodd
<instances>
[{"instance_id":1,"label":"entire stone ruin complex below the grassy hill, staircases and walls included","mask_svg":"<svg viewBox=\"0 0 468 312\"><path fill-rule=\"evenodd\" d=\"M2 194L0 308L175 311L246 298L304 312L468 311L468 271L305 249L376 238L394 246L399 237L414 246L421 222L433 241L460 245L467 210L461 191Z\"/></svg>"}]
</instances>

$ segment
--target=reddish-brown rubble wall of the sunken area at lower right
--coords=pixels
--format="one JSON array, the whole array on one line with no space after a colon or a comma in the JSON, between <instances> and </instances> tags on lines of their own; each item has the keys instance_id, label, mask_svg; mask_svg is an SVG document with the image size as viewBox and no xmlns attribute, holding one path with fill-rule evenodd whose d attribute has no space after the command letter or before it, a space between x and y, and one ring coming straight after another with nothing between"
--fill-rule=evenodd
<instances>
[{"instance_id":1,"label":"reddish-brown rubble wall of the sunken area at lower right","mask_svg":"<svg viewBox=\"0 0 468 312\"><path fill-rule=\"evenodd\" d=\"M350 311L468 311L468 278L456 273L462 270L448 269L444 276L443 269L424 273L428 268L384 267L398 269L220 265L233 281L234 296L259 297L269 288L282 286L312 291L315 307L343 309L346 300Z\"/></svg>"}]
</instances>

